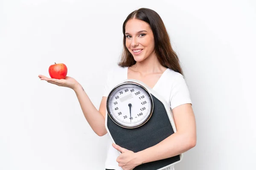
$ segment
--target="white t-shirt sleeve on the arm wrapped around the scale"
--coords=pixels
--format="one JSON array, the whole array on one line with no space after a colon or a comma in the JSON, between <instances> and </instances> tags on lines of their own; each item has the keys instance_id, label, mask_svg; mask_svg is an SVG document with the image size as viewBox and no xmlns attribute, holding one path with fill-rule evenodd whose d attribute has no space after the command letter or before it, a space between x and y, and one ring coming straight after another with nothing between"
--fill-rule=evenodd
<instances>
[{"instance_id":1,"label":"white t-shirt sleeve on the arm wrapped around the scale","mask_svg":"<svg viewBox=\"0 0 256 170\"><path fill-rule=\"evenodd\" d=\"M179 105L186 103L191 103L191 98L189 94L189 89L186 81L182 74L179 74L172 85L171 95L170 95L170 105L171 109Z\"/></svg>"}]
</instances>

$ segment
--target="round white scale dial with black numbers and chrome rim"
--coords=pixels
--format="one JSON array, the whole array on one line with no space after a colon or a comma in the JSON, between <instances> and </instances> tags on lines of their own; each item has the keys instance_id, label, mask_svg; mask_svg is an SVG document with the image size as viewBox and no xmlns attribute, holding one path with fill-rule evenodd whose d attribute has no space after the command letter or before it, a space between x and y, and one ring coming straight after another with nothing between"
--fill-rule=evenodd
<instances>
[{"instance_id":1,"label":"round white scale dial with black numbers and chrome rim","mask_svg":"<svg viewBox=\"0 0 256 170\"><path fill-rule=\"evenodd\" d=\"M135 128L143 125L153 112L153 100L147 89L136 82L119 84L108 95L107 111L119 126Z\"/></svg>"}]
</instances>

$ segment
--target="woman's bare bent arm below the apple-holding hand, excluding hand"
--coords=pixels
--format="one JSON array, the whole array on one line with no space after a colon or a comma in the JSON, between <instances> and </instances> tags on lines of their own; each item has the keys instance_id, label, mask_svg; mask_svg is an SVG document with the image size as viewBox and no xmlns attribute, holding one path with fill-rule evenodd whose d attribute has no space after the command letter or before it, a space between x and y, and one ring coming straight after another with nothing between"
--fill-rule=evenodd
<instances>
[{"instance_id":1,"label":"woman's bare bent arm below the apple-holding hand, excluding hand","mask_svg":"<svg viewBox=\"0 0 256 170\"><path fill-rule=\"evenodd\" d=\"M103 136L107 133L105 127L105 113L106 113L106 101L107 97L102 97L102 101L99 107L99 111L95 108L93 103L84 91L84 88L78 84L73 89L79 100L81 109L84 113L84 117L89 123L90 127L98 136Z\"/></svg>"}]
</instances>

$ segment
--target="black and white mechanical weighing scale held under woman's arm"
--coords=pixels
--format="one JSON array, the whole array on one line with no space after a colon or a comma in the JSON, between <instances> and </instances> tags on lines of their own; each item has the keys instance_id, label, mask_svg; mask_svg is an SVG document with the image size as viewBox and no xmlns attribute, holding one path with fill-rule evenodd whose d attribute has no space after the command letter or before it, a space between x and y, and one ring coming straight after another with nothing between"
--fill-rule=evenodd
<instances>
[{"instance_id":1,"label":"black and white mechanical weighing scale held under woman's arm","mask_svg":"<svg viewBox=\"0 0 256 170\"><path fill-rule=\"evenodd\" d=\"M166 100L135 79L120 82L111 90L106 110L105 127L112 142L134 153L158 144L177 131ZM182 158L183 153L140 164L133 170L163 170Z\"/></svg>"}]
</instances>

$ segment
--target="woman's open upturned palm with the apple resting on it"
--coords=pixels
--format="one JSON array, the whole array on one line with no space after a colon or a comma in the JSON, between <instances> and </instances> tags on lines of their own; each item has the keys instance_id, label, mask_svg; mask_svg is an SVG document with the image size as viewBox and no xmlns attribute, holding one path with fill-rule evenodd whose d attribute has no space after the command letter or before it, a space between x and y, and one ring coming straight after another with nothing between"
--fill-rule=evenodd
<instances>
[{"instance_id":1,"label":"woman's open upturned palm with the apple resting on it","mask_svg":"<svg viewBox=\"0 0 256 170\"><path fill-rule=\"evenodd\" d=\"M79 82L76 81L76 79L72 78L72 77L66 77L65 79L51 79L48 77L45 77L43 75L38 75L38 77L41 80L45 80L49 83L58 85L58 86L63 86L63 87L67 87L67 88L71 88L71 89L75 89L77 85L79 85Z\"/></svg>"}]
</instances>

